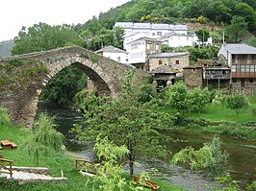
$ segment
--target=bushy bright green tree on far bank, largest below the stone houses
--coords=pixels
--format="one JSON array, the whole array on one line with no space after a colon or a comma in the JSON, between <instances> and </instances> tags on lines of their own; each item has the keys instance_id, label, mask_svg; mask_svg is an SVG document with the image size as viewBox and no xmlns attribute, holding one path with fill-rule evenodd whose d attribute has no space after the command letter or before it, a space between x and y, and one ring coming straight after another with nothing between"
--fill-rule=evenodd
<instances>
[{"instance_id":1,"label":"bushy bright green tree on far bank, largest below the stone houses","mask_svg":"<svg viewBox=\"0 0 256 191\"><path fill-rule=\"evenodd\" d=\"M178 82L166 91L166 106L184 112L191 106L190 95L186 84Z\"/></svg>"}]
</instances>

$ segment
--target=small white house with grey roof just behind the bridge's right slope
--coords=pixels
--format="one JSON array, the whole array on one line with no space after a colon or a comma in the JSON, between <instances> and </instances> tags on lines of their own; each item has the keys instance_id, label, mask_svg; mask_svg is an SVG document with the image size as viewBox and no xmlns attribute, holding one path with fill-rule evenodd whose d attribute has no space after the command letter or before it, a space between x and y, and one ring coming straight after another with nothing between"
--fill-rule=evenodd
<instances>
[{"instance_id":1,"label":"small white house with grey roof just behind the bridge's right slope","mask_svg":"<svg viewBox=\"0 0 256 191\"><path fill-rule=\"evenodd\" d=\"M118 61L120 63L129 63L128 52L115 48L114 46L106 46L95 53L102 55L105 58Z\"/></svg>"}]
</instances>

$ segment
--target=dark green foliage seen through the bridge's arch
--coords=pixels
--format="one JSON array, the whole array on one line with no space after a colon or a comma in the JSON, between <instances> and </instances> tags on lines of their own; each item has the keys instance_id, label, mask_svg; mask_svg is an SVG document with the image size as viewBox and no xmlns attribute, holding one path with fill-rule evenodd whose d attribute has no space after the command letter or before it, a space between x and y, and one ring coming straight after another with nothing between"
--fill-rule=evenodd
<instances>
[{"instance_id":1,"label":"dark green foliage seen through the bridge's arch","mask_svg":"<svg viewBox=\"0 0 256 191\"><path fill-rule=\"evenodd\" d=\"M75 94L87 85L87 75L75 65L65 67L42 89L40 99L71 105Z\"/></svg>"}]
</instances>

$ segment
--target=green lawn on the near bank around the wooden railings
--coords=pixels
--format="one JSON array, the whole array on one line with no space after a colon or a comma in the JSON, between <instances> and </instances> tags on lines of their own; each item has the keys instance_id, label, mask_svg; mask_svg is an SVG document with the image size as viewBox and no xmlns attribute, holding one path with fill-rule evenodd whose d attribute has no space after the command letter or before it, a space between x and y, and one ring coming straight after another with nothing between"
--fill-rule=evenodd
<instances>
[{"instance_id":1,"label":"green lawn on the near bank around the wooden railings","mask_svg":"<svg viewBox=\"0 0 256 191\"><path fill-rule=\"evenodd\" d=\"M24 127L16 127L11 125L7 118L5 117L5 121L1 121L4 119L3 112L1 113L0 107L0 140L8 139L13 141L16 145L18 145L17 150L0 150L0 153L3 153L4 158L12 159L14 166L35 166L35 162L33 160L33 156L27 155L23 152L24 143L26 141L26 137L31 133L30 130ZM37 183L25 183L19 185L16 180L8 180L3 181L0 179L0 190L7 191L23 191L23 190L55 190L55 191L84 191L84 190L102 190L99 188L100 182L93 183L93 178L84 177L80 175L79 172L75 170L74 166L74 158L68 156L66 154L54 154L51 153L49 155L43 155L39 157L39 166L47 167L49 169L49 174L53 177L61 177L61 170L64 172L64 177L68 180L63 182L37 182ZM131 182L130 176L124 176L127 179L127 183ZM154 179L161 186L160 191L184 191L185 189L170 185L165 180ZM126 189L125 190L130 190ZM146 190L146 189L144 189Z\"/></svg>"}]
</instances>

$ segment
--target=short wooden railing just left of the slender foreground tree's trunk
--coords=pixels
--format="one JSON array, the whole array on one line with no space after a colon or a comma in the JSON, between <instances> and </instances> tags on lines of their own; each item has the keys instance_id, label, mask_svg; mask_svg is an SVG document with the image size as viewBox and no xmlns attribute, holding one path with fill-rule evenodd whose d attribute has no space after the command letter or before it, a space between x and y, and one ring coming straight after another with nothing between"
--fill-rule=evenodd
<instances>
[{"instance_id":1,"label":"short wooden railing just left of the slender foreground tree's trunk","mask_svg":"<svg viewBox=\"0 0 256 191\"><path fill-rule=\"evenodd\" d=\"M97 164L85 159L76 159L75 168L78 171L83 171L94 175L97 174Z\"/></svg>"}]
</instances>

